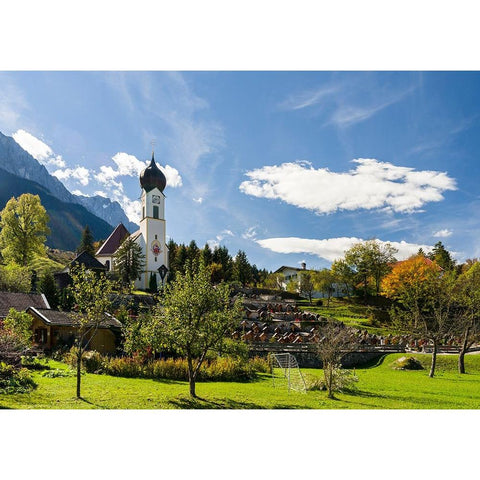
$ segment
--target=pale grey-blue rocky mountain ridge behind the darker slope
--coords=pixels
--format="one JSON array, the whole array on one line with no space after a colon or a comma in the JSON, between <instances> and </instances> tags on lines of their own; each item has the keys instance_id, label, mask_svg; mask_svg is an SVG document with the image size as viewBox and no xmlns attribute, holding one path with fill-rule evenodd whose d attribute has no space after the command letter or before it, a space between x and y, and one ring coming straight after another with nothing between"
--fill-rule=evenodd
<instances>
[{"instance_id":1,"label":"pale grey-blue rocky mountain ridge behind the darker slope","mask_svg":"<svg viewBox=\"0 0 480 480\"><path fill-rule=\"evenodd\" d=\"M0 168L17 177L32 180L44 186L51 195L63 202L82 205L112 227L123 223L130 232L138 229L138 225L127 218L118 202L112 202L110 199L98 195L94 197L73 195L58 178L50 175L47 169L12 137L8 137L2 132L0 132Z\"/></svg>"}]
</instances>

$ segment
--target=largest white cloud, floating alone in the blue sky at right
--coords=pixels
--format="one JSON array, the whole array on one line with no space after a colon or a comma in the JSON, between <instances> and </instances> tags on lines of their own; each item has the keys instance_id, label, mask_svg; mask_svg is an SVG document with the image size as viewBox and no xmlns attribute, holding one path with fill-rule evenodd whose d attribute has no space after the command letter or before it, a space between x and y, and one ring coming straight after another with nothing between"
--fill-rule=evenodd
<instances>
[{"instance_id":1,"label":"largest white cloud, floating alone in the blue sky at right","mask_svg":"<svg viewBox=\"0 0 480 480\"><path fill-rule=\"evenodd\" d=\"M359 209L415 212L443 200L444 191L456 190L455 180L445 172L416 171L375 159L353 162L357 167L342 173L315 169L307 161L265 166L247 172L250 180L239 188L247 195L280 199L319 214Z\"/></svg>"}]
</instances>

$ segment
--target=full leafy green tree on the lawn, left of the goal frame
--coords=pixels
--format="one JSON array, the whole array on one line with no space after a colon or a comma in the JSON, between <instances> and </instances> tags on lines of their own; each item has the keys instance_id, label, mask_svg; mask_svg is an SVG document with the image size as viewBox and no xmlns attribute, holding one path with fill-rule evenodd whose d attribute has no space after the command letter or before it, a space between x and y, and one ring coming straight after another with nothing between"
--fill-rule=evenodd
<instances>
[{"instance_id":1,"label":"full leafy green tree on the lawn, left of the goal frame","mask_svg":"<svg viewBox=\"0 0 480 480\"><path fill-rule=\"evenodd\" d=\"M214 286L205 265L189 262L185 274L165 287L152 318L151 343L157 350L167 347L186 357L190 395L195 398L197 374L207 353L221 349L225 335L241 318L241 302L231 304L230 287Z\"/></svg>"}]
</instances>

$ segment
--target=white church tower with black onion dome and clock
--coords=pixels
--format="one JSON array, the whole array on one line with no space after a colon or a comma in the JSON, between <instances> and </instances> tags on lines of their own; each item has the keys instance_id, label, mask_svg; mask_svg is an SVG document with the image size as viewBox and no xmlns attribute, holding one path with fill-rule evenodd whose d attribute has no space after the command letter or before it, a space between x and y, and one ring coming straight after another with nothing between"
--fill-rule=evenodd
<instances>
[{"instance_id":1,"label":"white church tower with black onion dome and clock","mask_svg":"<svg viewBox=\"0 0 480 480\"><path fill-rule=\"evenodd\" d=\"M155 163L152 152L150 165L140 174L142 187L142 218L136 242L145 254L144 273L135 282L135 286L148 289L150 276L157 277L157 285L162 285L160 272L168 268L168 249L166 244L165 195L163 190L167 179Z\"/></svg>"}]
</instances>

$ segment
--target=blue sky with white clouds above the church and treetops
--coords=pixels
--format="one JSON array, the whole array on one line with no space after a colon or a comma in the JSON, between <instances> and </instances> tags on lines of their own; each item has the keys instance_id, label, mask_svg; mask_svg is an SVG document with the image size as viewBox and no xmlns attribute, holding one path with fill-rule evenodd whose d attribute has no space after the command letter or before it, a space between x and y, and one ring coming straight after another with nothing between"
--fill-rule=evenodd
<instances>
[{"instance_id":1,"label":"blue sky with white clouds above the church and treetops","mask_svg":"<svg viewBox=\"0 0 480 480\"><path fill-rule=\"evenodd\" d=\"M479 106L469 72L0 73L0 130L69 190L135 220L154 140L168 235L272 270L368 238L480 256Z\"/></svg>"}]
</instances>

